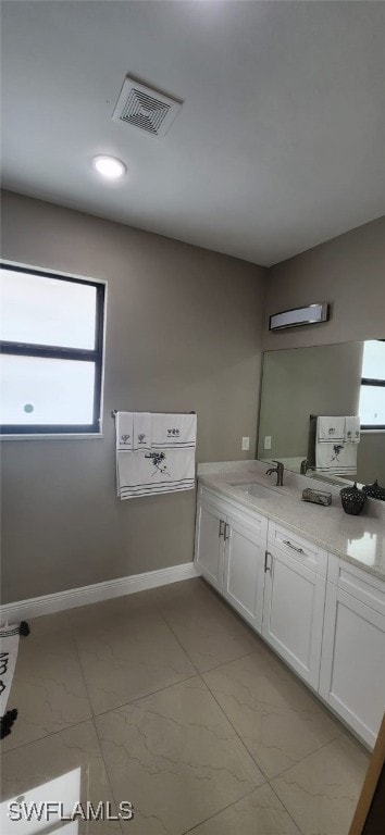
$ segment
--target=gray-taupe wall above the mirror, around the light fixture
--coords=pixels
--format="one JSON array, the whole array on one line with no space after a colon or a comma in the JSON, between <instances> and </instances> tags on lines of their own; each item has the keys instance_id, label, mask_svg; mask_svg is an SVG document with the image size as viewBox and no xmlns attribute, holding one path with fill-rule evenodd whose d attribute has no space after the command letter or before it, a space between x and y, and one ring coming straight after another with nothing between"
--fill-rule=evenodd
<instances>
[{"instance_id":1,"label":"gray-taupe wall above the mirror, around the light fixture","mask_svg":"<svg viewBox=\"0 0 385 835\"><path fill-rule=\"evenodd\" d=\"M281 310L332 303L330 322L269 333ZM269 270L264 351L385 337L385 217Z\"/></svg>"}]
</instances>

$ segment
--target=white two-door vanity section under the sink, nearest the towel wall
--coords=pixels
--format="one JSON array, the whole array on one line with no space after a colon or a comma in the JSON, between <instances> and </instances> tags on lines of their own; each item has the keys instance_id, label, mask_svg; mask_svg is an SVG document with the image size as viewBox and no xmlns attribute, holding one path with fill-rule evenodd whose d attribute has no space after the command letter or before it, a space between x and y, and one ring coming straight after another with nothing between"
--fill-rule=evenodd
<instances>
[{"instance_id":1,"label":"white two-door vanity section under the sink, nearest the towel wall","mask_svg":"<svg viewBox=\"0 0 385 835\"><path fill-rule=\"evenodd\" d=\"M196 563L206 579L258 632L262 627L268 520L202 489L198 501Z\"/></svg>"}]
</instances>

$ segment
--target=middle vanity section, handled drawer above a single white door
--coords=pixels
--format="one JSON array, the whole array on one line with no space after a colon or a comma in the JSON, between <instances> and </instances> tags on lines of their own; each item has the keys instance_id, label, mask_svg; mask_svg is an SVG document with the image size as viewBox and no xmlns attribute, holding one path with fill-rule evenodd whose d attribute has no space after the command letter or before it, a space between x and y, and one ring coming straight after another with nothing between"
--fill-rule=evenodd
<instances>
[{"instance_id":1,"label":"middle vanity section, handled drawer above a single white door","mask_svg":"<svg viewBox=\"0 0 385 835\"><path fill-rule=\"evenodd\" d=\"M318 689L327 553L269 522L262 635Z\"/></svg>"}]
</instances>

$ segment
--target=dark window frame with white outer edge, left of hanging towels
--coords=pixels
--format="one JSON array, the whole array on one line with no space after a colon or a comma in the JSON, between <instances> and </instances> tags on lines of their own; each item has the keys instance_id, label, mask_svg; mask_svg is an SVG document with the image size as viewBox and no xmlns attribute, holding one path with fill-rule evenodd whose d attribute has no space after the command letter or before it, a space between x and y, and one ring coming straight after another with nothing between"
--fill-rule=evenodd
<instances>
[{"instance_id":1,"label":"dark window frame with white outer edge, left of hanging towels","mask_svg":"<svg viewBox=\"0 0 385 835\"><path fill-rule=\"evenodd\" d=\"M92 423L89 424L10 424L0 423L0 437L92 437L101 436L102 422L102 382L104 362L104 332L105 332L105 301L107 283L102 279L67 274L59 271L45 270L27 264L18 264L13 261L0 261L0 267L15 273L38 275L45 278L66 282L67 284L85 284L96 288L95 313L95 347L66 348L58 345L37 345L34 342L18 342L16 340L0 339L0 354L13 357L40 357L54 360L83 360L95 363Z\"/></svg>"}]
</instances>

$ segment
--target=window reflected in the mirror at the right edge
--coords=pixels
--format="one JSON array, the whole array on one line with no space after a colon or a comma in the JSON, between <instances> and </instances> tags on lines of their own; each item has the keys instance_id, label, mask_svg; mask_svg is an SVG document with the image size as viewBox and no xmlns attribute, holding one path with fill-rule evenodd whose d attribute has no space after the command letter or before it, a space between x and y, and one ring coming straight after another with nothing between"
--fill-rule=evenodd
<instances>
[{"instance_id":1,"label":"window reflected in the mirror at the right edge","mask_svg":"<svg viewBox=\"0 0 385 835\"><path fill-rule=\"evenodd\" d=\"M359 414L362 429L385 429L385 340L363 344Z\"/></svg>"}]
</instances>

